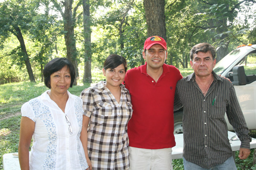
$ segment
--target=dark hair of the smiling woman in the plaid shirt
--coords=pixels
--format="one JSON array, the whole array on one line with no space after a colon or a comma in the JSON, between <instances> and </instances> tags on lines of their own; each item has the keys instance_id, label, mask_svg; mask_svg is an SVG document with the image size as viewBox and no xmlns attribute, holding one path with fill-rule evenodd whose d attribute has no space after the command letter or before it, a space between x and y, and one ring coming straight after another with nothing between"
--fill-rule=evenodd
<instances>
[{"instance_id":1,"label":"dark hair of the smiling woman in the plaid shirt","mask_svg":"<svg viewBox=\"0 0 256 170\"><path fill-rule=\"evenodd\" d=\"M115 69L117 66L123 64L125 72L127 70L127 63L126 63L126 59L122 56L119 56L117 54L110 54L104 64L103 64L103 68L106 70L108 68L110 69Z\"/></svg>"}]
</instances>

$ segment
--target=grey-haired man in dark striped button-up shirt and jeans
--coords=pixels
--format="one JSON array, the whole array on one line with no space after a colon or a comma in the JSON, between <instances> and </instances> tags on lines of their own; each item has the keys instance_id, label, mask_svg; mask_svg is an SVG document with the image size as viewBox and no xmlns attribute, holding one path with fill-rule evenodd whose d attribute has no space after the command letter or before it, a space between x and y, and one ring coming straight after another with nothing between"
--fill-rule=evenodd
<instances>
[{"instance_id":1,"label":"grey-haired man in dark striped button-up shirt and jeans","mask_svg":"<svg viewBox=\"0 0 256 170\"><path fill-rule=\"evenodd\" d=\"M246 159L250 153L249 129L235 89L213 71L215 57L212 45L195 45L190 51L194 73L176 85L175 110L183 106L185 170L236 170L225 113L241 140L240 159Z\"/></svg>"}]
</instances>

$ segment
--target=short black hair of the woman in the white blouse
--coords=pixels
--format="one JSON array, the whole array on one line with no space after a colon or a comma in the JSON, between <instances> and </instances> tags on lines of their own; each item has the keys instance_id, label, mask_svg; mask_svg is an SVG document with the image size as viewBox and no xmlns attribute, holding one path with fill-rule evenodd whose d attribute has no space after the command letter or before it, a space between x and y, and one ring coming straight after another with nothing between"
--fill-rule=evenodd
<instances>
[{"instance_id":1,"label":"short black hair of the woman in the white blouse","mask_svg":"<svg viewBox=\"0 0 256 170\"><path fill-rule=\"evenodd\" d=\"M50 85L51 75L54 72L61 70L65 66L69 68L69 72L71 76L70 87L72 88L72 85L75 79L75 69L73 64L67 58L54 58L45 65L43 70L43 75L44 75L44 83L47 88L51 88L51 85Z\"/></svg>"}]
</instances>

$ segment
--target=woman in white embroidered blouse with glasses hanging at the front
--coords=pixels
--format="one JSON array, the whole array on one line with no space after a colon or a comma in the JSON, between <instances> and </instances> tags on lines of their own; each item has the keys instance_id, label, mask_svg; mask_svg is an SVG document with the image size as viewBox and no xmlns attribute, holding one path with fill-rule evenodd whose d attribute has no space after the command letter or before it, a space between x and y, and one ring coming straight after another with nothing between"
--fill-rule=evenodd
<instances>
[{"instance_id":1,"label":"woman in white embroidered blouse with glasses hanging at the front","mask_svg":"<svg viewBox=\"0 0 256 170\"><path fill-rule=\"evenodd\" d=\"M82 100L67 91L75 79L74 66L67 58L54 58L46 64L43 74L50 90L21 107L20 168L86 170L87 148L84 150L80 139Z\"/></svg>"}]
</instances>

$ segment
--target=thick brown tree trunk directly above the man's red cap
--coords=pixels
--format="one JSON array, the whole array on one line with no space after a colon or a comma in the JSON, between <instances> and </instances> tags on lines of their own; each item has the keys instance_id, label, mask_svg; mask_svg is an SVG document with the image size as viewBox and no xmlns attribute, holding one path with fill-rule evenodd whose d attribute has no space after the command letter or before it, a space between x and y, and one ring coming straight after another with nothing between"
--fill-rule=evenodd
<instances>
[{"instance_id":1,"label":"thick brown tree trunk directly above the man's red cap","mask_svg":"<svg viewBox=\"0 0 256 170\"><path fill-rule=\"evenodd\" d=\"M148 37L160 36L167 41L164 5L165 0L144 0Z\"/></svg>"}]
</instances>

